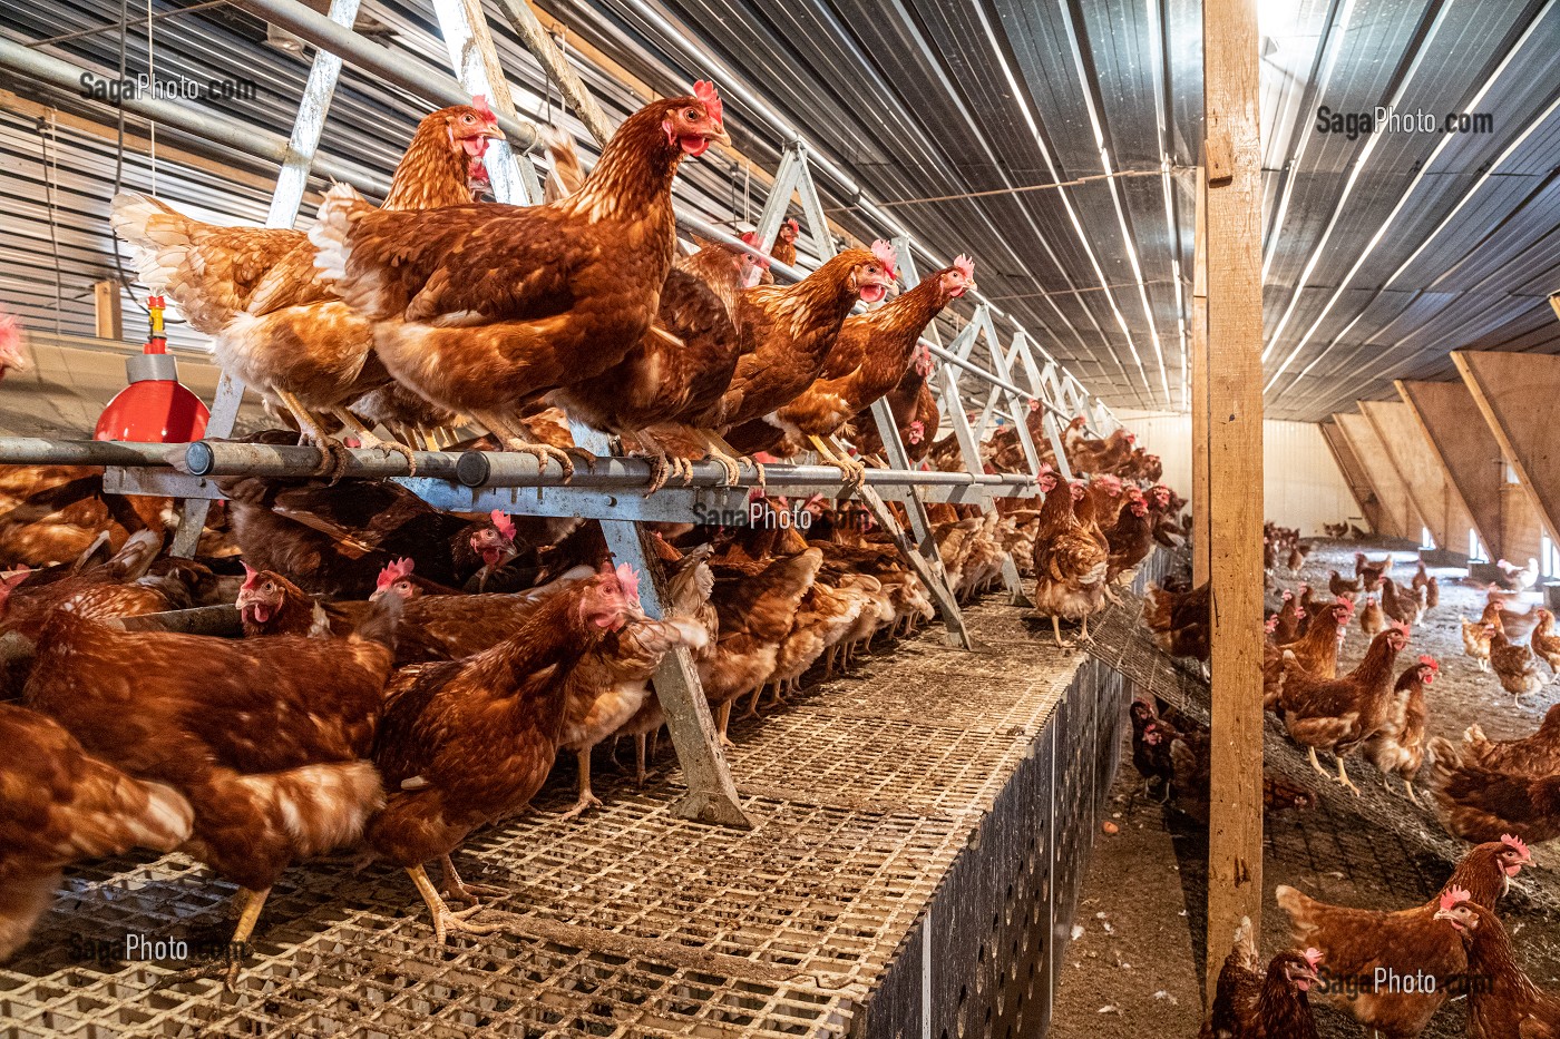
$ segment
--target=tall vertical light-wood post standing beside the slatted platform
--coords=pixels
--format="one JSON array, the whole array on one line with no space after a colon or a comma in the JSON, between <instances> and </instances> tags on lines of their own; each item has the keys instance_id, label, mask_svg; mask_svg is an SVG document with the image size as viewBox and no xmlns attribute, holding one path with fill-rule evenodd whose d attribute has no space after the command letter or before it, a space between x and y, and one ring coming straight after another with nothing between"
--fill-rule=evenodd
<instances>
[{"instance_id":1,"label":"tall vertical light-wood post standing beside the slatted platform","mask_svg":"<svg viewBox=\"0 0 1560 1039\"><path fill-rule=\"evenodd\" d=\"M1207 541L1212 585L1209 1002L1240 917L1262 933L1262 150L1253 0L1203 2Z\"/></svg>"}]
</instances>

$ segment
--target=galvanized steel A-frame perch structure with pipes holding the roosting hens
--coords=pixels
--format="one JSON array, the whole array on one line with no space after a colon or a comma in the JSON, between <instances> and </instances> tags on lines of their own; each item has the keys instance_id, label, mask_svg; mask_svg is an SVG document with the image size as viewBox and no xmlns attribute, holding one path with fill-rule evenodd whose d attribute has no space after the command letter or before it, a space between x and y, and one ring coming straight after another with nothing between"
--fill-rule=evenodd
<instances>
[{"instance_id":1,"label":"galvanized steel A-frame perch structure with pipes holding the roosting hens","mask_svg":"<svg viewBox=\"0 0 1560 1039\"><path fill-rule=\"evenodd\" d=\"M605 120L585 94L583 84L566 66L551 37L540 31L526 0L499 0L509 20L543 62L552 78L565 86L565 95L585 119L590 129L602 137L608 131ZM360 170L346 168L339 162L317 156L317 145L329 111L331 98L342 62L374 73L381 80L415 95L441 105L454 105L473 94L488 95L499 115L499 126L509 136L507 142L495 142L487 153L488 173L499 201L527 204L541 200L541 186L535 167L521 151L538 144L537 128L519 119L509 83L504 76L491 31L482 12L480 0L432 0L443 34L449 66L454 76L440 76L415 62L404 62L392 50L373 44L351 31L359 0L331 0L328 16L318 14L298 0L236 0L250 12L271 25L285 28L315 45L314 67L298 117L285 145L279 139L254 128L232 125L206 112L184 109L165 101L126 101L142 114L159 122L179 125L190 133L220 140L226 147L250 154L271 158L281 162L278 183L267 226L293 226L303 201L307 175L323 172L348 179L370 190L384 190L381 178ZM529 17L527 17L529 16ZM80 69L47 55L31 51L8 41L0 41L0 66L22 70L50 83L56 89L72 90ZM828 167L833 170L833 167ZM833 175L833 173L831 173ZM772 246L780 223L785 220L792 195L800 197L802 212L824 256L835 253L835 239L808 167L807 145L792 136L788 142L774 190L769 195L760 220L763 254ZM702 220L680 215L679 226L708 240L725 242L747 248L721 228ZM892 225L889 225L892 226ZM900 234L899 253L908 284L917 279L913 243ZM799 279L805 271L783 264L772 270L785 278ZM970 360L975 342L986 335L994 371ZM1028 424L1022 421L1031 406L1045 409L1045 431L1056 452L1059 468L1065 474L1065 456L1056 434L1058 417L1070 421L1072 415L1084 415L1098 429L1109 418L1103 404L1095 406L1090 417L1086 410L1087 395L1070 374L1058 378L1055 360L1047 357L1044 368L1037 367L1033 343L1022 331L1012 345L1003 351L992 323L992 307L981 301L975 317L944 349L936 328L927 329L922 343L942 360L934 390L941 396L948 424L953 427L963 456L963 473L911 471L908 452L899 437L886 401L874 404L874 418L888 456L888 470L869 470L860 488L850 488L841 480L835 466L769 466L768 487L791 495L824 495L849 498L856 495L872 512L886 532L894 535L909 562L938 604L948 629L948 640L969 646L963 616L947 583L941 557L927 516L925 502L975 504L991 509L995 498L1025 498L1036 493L1039 456L1031 440ZM1044 353L1044 351L1042 351ZM1030 388L1023 390L1012 381L1016 367L1022 367ZM959 381L963 376L991 385L991 395L981 423L972 427L963 399ZM223 474L251 476L304 476L323 460L315 448L273 448L223 441L231 435L237 418L243 385L223 376L207 424L209 441L193 445L108 445L80 441L47 441L27 438L0 438L0 462L17 465L44 465L75 462L105 465L105 490L122 495L161 495L186 501L184 523L175 540L178 554L192 554L198 540L206 507L220 491L211 477ZM980 437L998 399L1006 401L1016 418L1023 443L1030 473L986 474L980 460ZM1114 421L1114 420L1112 420ZM666 487L646 496L643 488L651 479L649 463L641 459L607 457L612 445L607 438L580 426L574 427L580 446L604 456L596 473L582 473L568 485L555 468L538 466L529 456L501 452L418 452L417 477L407 474L401 457L384 457L376 451L353 451L346 477L399 479L413 493L438 509L456 512L487 512L502 509L524 515L576 515L602 521L607 543L615 557L651 576L641 583L641 599L646 613L661 615L663 588L660 568L652 563L654 552L646 544L641 523L686 521L696 523L711 512L746 510L752 477L744 477L736 487L724 487L724 473L707 462L694 463L694 477L688 487ZM909 518L909 534L903 532L888 502L899 502ZM1006 587L1014 599L1022 599L1017 568L1012 560L1003 566ZM699 688L697 671L688 654L668 657L655 676L657 691L666 708L668 725L679 761L688 783L688 796L679 810L686 817L707 822L746 825L747 819L738 802L736 788L716 739L708 704Z\"/></svg>"}]
</instances>

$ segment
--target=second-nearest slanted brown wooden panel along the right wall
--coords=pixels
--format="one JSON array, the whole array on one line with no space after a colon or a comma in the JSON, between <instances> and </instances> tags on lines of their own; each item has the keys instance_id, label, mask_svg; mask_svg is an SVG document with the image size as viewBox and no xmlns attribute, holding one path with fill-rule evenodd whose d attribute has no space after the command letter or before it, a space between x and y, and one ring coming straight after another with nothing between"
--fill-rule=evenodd
<instances>
[{"instance_id":1,"label":"second-nearest slanted brown wooden panel along the right wall","mask_svg":"<svg viewBox=\"0 0 1560 1039\"><path fill-rule=\"evenodd\" d=\"M1470 421L1479 410L1473 393L1462 382L1396 382L1398 395L1409 404L1420 432L1435 451L1451 491L1462 501L1468 523L1496 559L1505 554L1505 530L1501 520L1501 485L1505 484L1505 456L1488 423ZM1462 552L1468 541L1449 540L1448 548Z\"/></svg>"}]
</instances>

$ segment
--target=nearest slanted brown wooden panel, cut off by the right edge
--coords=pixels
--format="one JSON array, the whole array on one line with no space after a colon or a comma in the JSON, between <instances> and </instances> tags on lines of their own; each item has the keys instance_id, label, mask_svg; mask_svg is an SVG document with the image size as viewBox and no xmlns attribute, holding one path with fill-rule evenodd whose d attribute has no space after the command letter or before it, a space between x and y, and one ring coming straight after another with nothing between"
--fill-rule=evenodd
<instances>
[{"instance_id":1,"label":"nearest slanted brown wooden panel, cut off by the right edge","mask_svg":"<svg viewBox=\"0 0 1560 1039\"><path fill-rule=\"evenodd\" d=\"M1560 395L1560 357L1454 349L1452 362L1544 530L1560 540L1560 427L1552 418Z\"/></svg>"}]
</instances>

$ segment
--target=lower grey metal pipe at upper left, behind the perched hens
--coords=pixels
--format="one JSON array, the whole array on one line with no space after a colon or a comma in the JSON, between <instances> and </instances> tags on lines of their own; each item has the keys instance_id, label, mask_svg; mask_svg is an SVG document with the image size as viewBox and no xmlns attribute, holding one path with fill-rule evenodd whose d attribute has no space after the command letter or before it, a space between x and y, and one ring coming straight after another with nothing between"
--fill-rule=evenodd
<instances>
[{"instance_id":1,"label":"lower grey metal pipe at upper left, behind the perched hens","mask_svg":"<svg viewBox=\"0 0 1560 1039\"><path fill-rule=\"evenodd\" d=\"M329 22L329 19L324 20ZM66 90L76 97L81 97L81 76L90 76L92 80L103 78L90 69L83 69L70 64L69 61L61 61L53 55L39 53L9 39L0 39L0 67L9 69L11 72L16 72L28 80L47 83L51 87ZM176 126L178 129L195 134L197 137L204 137L206 140L232 148L234 151L240 151L256 159L282 164L292 158L287 139L281 134L273 134L267 129L261 129L254 123L243 123L214 111L184 108L183 105L175 105L173 101L162 101L154 97L136 97L134 94L126 94L119 105L128 112L145 115L156 123ZM387 178L365 173L359 165L340 162L329 156L314 156L312 168L317 173L332 176L339 181L346 181L348 184L353 184L365 192L373 192L374 195L385 195L390 190L390 181Z\"/></svg>"}]
</instances>

